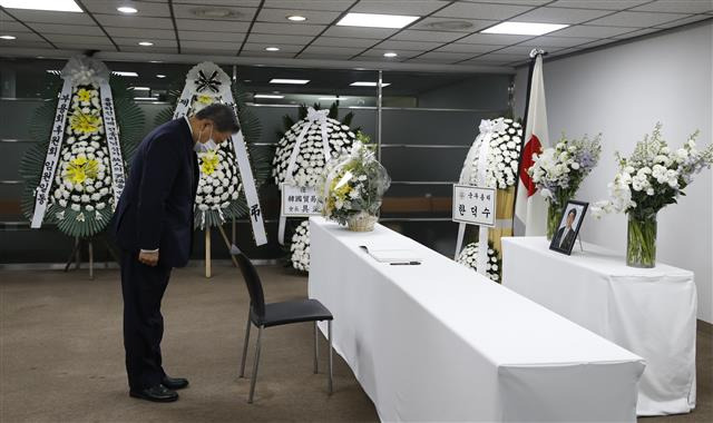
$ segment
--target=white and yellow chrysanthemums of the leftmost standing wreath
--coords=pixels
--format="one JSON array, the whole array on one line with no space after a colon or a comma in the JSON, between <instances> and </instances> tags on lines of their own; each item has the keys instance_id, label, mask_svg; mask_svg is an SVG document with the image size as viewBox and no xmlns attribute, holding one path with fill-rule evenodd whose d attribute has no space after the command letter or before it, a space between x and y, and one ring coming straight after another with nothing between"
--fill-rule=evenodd
<instances>
[{"instance_id":1,"label":"white and yellow chrysanthemums of the leftmost standing wreath","mask_svg":"<svg viewBox=\"0 0 713 423\"><path fill-rule=\"evenodd\" d=\"M114 208L109 150L104 136L104 120L98 85L75 86L65 128L55 190L50 204L77 212L75 219L85 222L86 214L97 220ZM108 207L108 209L107 209ZM105 215L106 214L106 215ZM57 212L59 220L64 212Z\"/></svg>"}]
</instances>

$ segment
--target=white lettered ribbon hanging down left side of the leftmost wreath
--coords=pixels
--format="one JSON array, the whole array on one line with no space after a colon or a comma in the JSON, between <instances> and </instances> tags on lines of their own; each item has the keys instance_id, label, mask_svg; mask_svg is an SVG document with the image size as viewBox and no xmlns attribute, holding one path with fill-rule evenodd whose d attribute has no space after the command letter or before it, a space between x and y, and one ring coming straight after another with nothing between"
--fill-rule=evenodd
<instances>
[{"instance_id":1,"label":"white lettered ribbon hanging down left side of the leftmost wreath","mask_svg":"<svg viewBox=\"0 0 713 423\"><path fill-rule=\"evenodd\" d=\"M35 189L35 213L32 214L32 222L30 223L30 227L33 229L42 226L42 219L45 218L45 213L49 204L50 189L52 188L57 163L59 161L59 153L62 148L62 141L65 140L65 124L67 122L67 115L71 102L71 78L66 77L62 90L59 94L59 101L57 102L57 112L55 114L52 132L49 137L49 147L47 148L45 165L42 165L40 183Z\"/></svg>"}]
</instances>

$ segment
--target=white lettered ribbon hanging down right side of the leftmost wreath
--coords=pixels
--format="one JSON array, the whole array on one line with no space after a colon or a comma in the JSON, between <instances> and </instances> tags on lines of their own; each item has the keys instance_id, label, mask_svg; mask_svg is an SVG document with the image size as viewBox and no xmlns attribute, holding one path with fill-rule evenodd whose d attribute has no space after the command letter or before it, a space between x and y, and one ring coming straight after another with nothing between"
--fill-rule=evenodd
<instances>
[{"instance_id":1,"label":"white lettered ribbon hanging down right side of the leftmost wreath","mask_svg":"<svg viewBox=\"0 0 713 423\"><path fill-rule=\"evenodd\" d=\"M101 111L104 115L104 134L109 149L109 164L111 166L111 188L114 189L114 208L119 204L119 197L126 184L124 173L124 157L121 156L121 145L119 142L119 127L114 112L114 99L111 98L111 87L109 81L99 82L101 96Z\"/></svg>"}]
</instances>

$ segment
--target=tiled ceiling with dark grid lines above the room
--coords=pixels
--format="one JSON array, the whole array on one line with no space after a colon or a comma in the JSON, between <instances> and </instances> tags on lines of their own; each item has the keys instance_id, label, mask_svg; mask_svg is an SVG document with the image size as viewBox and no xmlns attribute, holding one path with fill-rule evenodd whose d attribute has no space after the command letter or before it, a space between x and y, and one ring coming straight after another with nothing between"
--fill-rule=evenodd
<instances>
[{"instance_id":1,"label":"tiled ceiling with dark grid lines above the room","mask_svg":"<svg viewBox=\"0 0 713 423\"><path fill-rule=\"evenodd\" d=\"M77 0L85 13L0 8L0 48L100 50L152 55L318 59L511 67L533 47L550 56L713 19L713 0ZM137 14L116 8L134 6ZM197 9L229 9L232 17L199 19ZM346 12L422 17L397 29L336 27ZM301 14L306 22L290 22ZM543 37L480 30L504 20L569 23ZM459 21L466 29L443 30ZM140 47L152 41L153 47ZM277 52L266 47L280 47ZM7 51L7 50L4 50ZM399 57L387 59L385 51Z\"/></svg>"}]
</instances>

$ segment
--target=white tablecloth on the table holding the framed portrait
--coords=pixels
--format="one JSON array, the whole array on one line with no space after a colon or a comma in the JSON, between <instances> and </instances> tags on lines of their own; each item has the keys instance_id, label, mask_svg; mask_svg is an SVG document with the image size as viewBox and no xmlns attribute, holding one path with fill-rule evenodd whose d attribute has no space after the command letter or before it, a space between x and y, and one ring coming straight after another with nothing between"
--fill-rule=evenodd
<instances>
[{"instance_id":1,"label":"white tablecloth on the table holding the framed portrait","mask_svg":"<svg viewBox=\"0 0 713 423\"><path fill-rule=\"evenodd\" d=\"M506 287L646 360L639 415L695 407L693 273L628 267L624 256L592 244L566 256L544 237L504 238L502 254Z\"/></svg>"}]
</instances>

